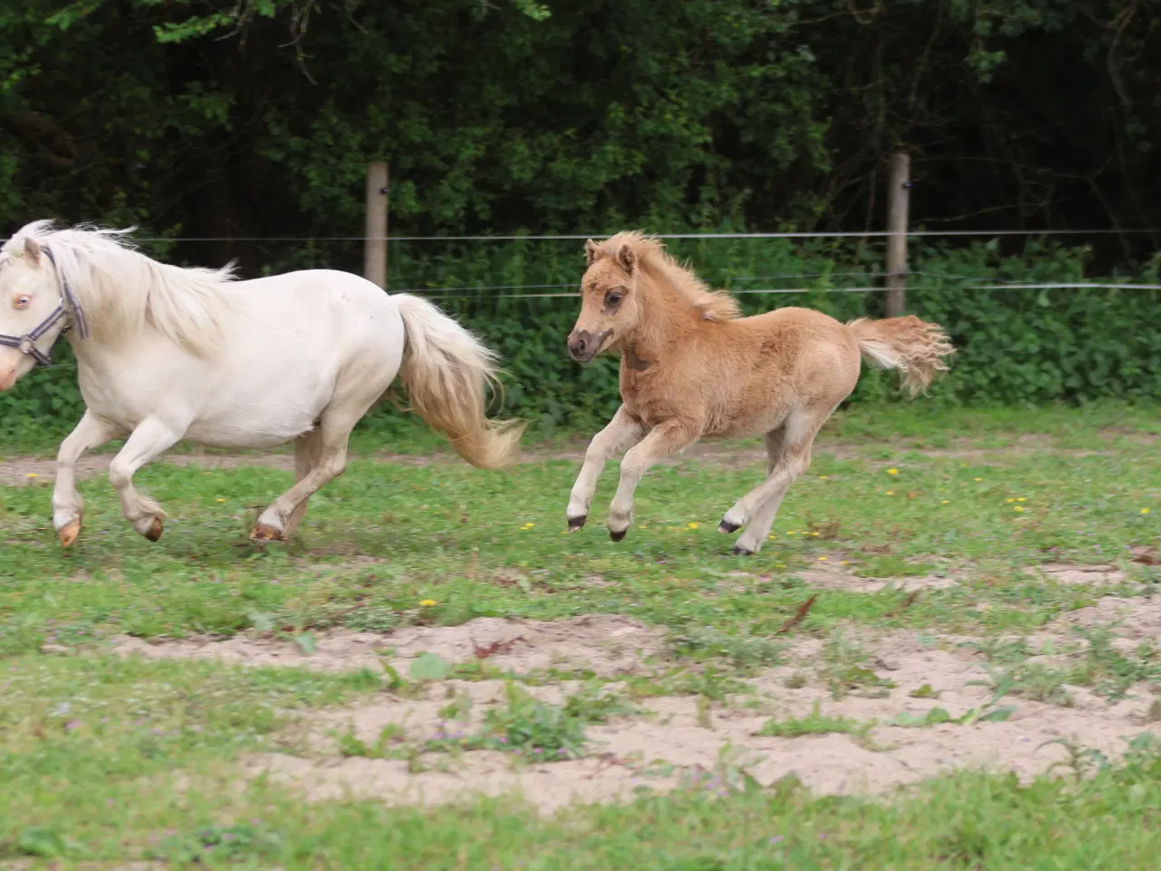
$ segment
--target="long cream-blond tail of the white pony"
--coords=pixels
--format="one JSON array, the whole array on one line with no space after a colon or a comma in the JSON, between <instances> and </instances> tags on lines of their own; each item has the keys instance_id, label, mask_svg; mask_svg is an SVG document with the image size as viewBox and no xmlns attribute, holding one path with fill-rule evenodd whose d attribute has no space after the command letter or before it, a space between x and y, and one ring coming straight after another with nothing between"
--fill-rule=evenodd
<instances>
[{"instance_id":1,"label":"long cream-blond tail of the white pony","mask_svg":"<svg viewBox=\"0 0 1161 871\"><path fill-rule=\"evenodd\" d=\"M527 424L485 413L488 390L499 383L496 354L426 300L391 298L406 333L399 376L414 410L477 468L497 469L515 459Z\"/></svg>"}]
</instances>

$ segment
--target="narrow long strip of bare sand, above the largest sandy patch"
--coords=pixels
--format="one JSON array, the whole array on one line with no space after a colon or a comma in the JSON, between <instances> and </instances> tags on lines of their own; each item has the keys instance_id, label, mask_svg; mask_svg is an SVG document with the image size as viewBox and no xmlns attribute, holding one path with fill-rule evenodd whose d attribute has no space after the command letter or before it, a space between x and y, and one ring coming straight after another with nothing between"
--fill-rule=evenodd
<instances>
[{"instance_id":1,"label":"narrow long strip of bare sand, above the largest sandy patch","mask_svg":"<svg viewBox=\"0 0 1161 871\"><path fill-rule=\"evenodd\" d=\"M339 629L312 639L309 654L293 640L244 635L158 642L121 636L114 646L118 653L150 658L223 660L325 671L380 670L385 660L402 674L420 653L461 663L478 658L477 648L492 647L495 653L488 661L503 670L528 674L555 667L601 676L635 672L663 646L662 633L619 614L555 622L482 617L461 626L409 627L387 635Z\"/></svg>"}]
</instances>

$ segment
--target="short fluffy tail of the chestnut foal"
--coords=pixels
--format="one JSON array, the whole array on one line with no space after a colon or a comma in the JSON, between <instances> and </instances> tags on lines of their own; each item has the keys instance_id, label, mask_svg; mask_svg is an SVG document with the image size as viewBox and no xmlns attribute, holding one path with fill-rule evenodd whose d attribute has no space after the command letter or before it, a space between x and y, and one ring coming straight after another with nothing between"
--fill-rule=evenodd
<instances>
[{"instance_id":1,"label":"short fluffy tail of the chestnut foal","mask_svg":"<svg viewBox=\"0 0 1161 871\"><path fill-rule=\"evenodd\" d=\"M915 315L882 321L860 317L846 326L863 359L880 369L899 369L913 398L926 390L937 374L947 372L945 358L956 353L942 326Z\"/></svg>"}]
</instances>

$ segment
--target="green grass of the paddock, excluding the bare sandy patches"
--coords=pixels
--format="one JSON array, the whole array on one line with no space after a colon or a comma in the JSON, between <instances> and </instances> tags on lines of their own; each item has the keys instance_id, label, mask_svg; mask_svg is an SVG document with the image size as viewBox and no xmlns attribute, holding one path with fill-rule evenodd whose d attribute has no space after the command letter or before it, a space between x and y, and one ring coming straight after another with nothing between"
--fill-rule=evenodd
<instances>
[{"instance_id":1,"label":"green grass of the paddock, excluding the bare sandy patches","mask_svg":"<svg viewBox=\"0 0 1161 871\"><path fill-rule=\"evenodd\" d=\"M995 639L1032 632L1106 592L1024 571L1041 562L1118 563L1146 583L1116 592L1155 589L1161 574L1132 562L1130 547L1161 538L1161 452L1141 442L1161 431L1158 419L1112 405L985 415L916 404L842 416L787 496L773 539L751 559L729 555L733 539L714 527L760 478L757 455L749 468L650 472L620 545L603 527L615 463L590 526L567 535L574 462L483 473L356 460L312 501L302 540L266 550L245 537L253 506L289 485L277 470L147 467L138 485L173 517L157 545L122 519L103 476L85 481L86 527L70 550L57 546L48 520L46 483L0 488L0 858L666 871L1152 868L1161 762L1144 746L1127 765L1075 783L1021 786L961 773L882 801L819 799L791 784L756 789L742 777L724 794L691 786L546 819L499 800L440 809L307 805L265 780L244 783L239 760L295 749L303 712L383 698L392 688L403 694L414 676L120 660L106 649L118 634L302 638L334 626L385 632L483 616L606 612L664 628L669 647L657 672L625 682L623 694L597 681L554 706L514 688L476 735L565 756L589 751L589 724L648 706L652 696L698 694L708 722L711 699L736 692L743 677L778 664L787 643L809 635L824 639L819 672L836 696L874 694L882 682L844 634L852 627ZM1031 447L1027 436L1038 437ZM985 453L949 453L961 449ZM810 588L803 574L821 557L866 577L953 574L962 583L917 598L889 588ZM1087 657L1067 674L1024 663L1026 648L989 641L997 700L1065 704L1065 683L1117 698L1135 681L1159 679L1154 649L1119 652L1101 627L1088 632ZM45 645L58 653L41 653ZM485 662L447 674L498 676L490 669ZM455 719L462 700L447 704ZM771 728L827 730L807 720ZM390 757L401 740L348 741L345 751Z\"/></svg>"}]
</instances>

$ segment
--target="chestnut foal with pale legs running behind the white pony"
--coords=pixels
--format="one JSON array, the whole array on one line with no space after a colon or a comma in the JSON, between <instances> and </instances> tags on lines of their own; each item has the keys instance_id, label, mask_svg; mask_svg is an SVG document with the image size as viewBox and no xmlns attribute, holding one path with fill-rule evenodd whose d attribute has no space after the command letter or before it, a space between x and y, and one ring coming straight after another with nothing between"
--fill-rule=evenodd
<instances>
[{"instance_id":1,"label":"chestnut foal with pale legs running behind the white pony","mask_svg":"<svg viewBox=\"0 0 1161 871\"><path fill-rule=\"evenodd\" d=\"M766 437L766 480L726 512L721 532L745 527L735 553L752 554L773 526L786 490L810 465L820 427L859 377L860 357L899 369L914 397L952 353L943 330L917 317L842 324L785 308L740 317L656 239L622 232L585 243L580 316L569 353L589 362L621 355L621 406L597 433L569 498L569 531L589 517L597 478L614 453L621 481L608 513L613 541L633 518L633 492L659 460L702 437Z\"/></svg>"}]
</instances>

